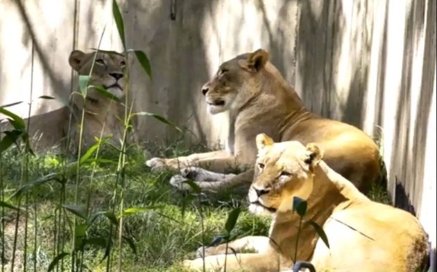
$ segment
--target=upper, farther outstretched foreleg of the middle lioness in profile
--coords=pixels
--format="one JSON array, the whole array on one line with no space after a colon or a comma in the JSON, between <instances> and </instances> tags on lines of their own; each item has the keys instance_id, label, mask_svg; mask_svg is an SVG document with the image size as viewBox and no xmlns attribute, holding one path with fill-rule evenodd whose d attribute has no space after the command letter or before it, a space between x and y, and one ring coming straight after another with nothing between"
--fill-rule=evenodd
<instances>
[{"instance_id":1,"label":"upper, farther outstretched foreleg of the middle lioness in profile","mask_svg":"<svg viewBox=\"0 0 437 272\"><path fill-rule=\"evenodd\" d=\"M205 153L191 154L189 156L180 156L178 158L151 158L146 161L146 165L153 170L161 170L170 168L173 170L180 170L181 168L196 166L199 163L210 163L214 166L214 161L221 160L229 161L232 164L234 156L229 154L226 150L218 150ZM213 169L217 171L216 169Z\"/></svg>"}]
</instances>

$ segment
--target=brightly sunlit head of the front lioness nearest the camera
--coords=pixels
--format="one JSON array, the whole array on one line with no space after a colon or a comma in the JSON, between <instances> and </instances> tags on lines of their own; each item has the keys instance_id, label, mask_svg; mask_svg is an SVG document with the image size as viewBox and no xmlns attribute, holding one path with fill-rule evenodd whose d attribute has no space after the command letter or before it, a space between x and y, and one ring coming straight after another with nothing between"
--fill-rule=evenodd
<instances>
[{"instance_id":1,"label":"brightly sunlit head of the front lioness nearest the camera","mask_svg":"<svg viewBox=\"0 0 437 272\"><path fill-rule=\"evenodd\" d=\"M314 170L322 159L320 149L298 141L273 143L257 135L258 156L249 190L251 212L271 214L293 208L293 197L308 199L314 187Z\"/></svg>"}]
</instances>

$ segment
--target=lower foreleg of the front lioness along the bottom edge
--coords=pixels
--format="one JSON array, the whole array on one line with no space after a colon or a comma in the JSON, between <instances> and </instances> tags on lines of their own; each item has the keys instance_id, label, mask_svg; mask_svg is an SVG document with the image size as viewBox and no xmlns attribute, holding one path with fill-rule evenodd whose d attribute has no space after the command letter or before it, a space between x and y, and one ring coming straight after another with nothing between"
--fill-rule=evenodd
<instances>
[{"instance_id":1,"label":"lower foreleg of the front lioness along the bottom edge","mask_svg":"<svg viewBox=\"0 0 437 272\"><path fill-rule=\"evenodd\" d=\"M206 271L237 271L246 269L251 272L281 271L280 256L265 253L241 253L228 255L212 255L205 259L185 260L183 265L189 269L202 271L205 260Z\"/></svg>"}]
</instances>

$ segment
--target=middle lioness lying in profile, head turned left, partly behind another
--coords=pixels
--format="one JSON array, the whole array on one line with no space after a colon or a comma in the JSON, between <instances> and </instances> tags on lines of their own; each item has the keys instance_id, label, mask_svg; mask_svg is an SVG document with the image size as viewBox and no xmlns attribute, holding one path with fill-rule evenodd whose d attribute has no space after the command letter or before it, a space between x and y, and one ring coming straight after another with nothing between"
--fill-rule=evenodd
<instances>
[{"instance_id":1,"label":"middle lioness lying in profile, head turned left, partly behind another","mask_svg":"<svg viewBox=\"0 0 437 272\"><path fill-rule=\"evenodd\" d=\"M153 170L162 167L177 170L198 164L209 165L215 172L235 164L251 167L256 155L255 136L266 133L276 141L317 143L325 149L327 164L363 192L379 176L379 153L372 139L352 125L322 118L305 109L298 94L268 62L268 54L262 49L221 64L214 78L203 86L202 93L210 114L230 111L227 149L179 158L151 158L146 165ZM196 172L200 174L196 176ZM202 188L250 183L253 177L253 170L237 176L216 176L199 168L182 169L182 176L175 176L173 185L181 185L187 173ZM204 176L216 182L202 182Z\"/></svg>"}]
</instances>

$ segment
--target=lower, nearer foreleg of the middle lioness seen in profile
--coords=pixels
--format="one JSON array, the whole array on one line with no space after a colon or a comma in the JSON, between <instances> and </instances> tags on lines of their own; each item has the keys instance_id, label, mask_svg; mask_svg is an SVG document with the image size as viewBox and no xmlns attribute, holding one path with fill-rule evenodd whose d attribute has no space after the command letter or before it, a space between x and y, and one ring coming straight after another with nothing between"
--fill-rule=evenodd
<instances>
[{"instance_id":1,"label":"lower, nearer foreleg of the middle lioness seen in profile","mask_svg":"<svg viewBox=\"0 0 437 272\"><path fill-rule=\"evenodd\" d=\"M191 168L193 169L193 168ZM204 190L223 190L226 188L232 188L234 186L238 186L241 184L250 184L253 179L254 170L250 169L246 172L243 172L241 174L218 174L214 172L209 172L206 170L203 170L202 168L194 168L198 170L199 172L208 172L210 174L197 174L194 176L194 174L188 174L188 176L183 175L183 172L189 170L182 170L182 174L177 174L175 176L172 176L170 179L171 185L175 186L176 188L180 188L181 190L189 190L190 186L184 181L187 181L187 179L193 180L200 188ZM209 179L202 179L203 177L208 176ZM217 180L214 180L214 178L218 178Z\"/></svg>"}]
</instances>

